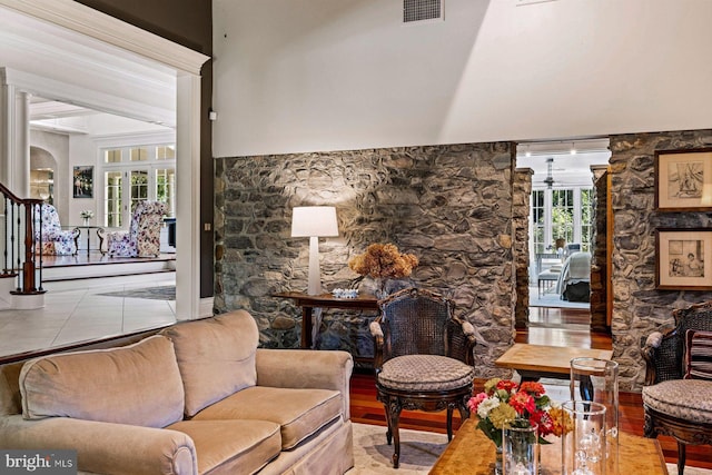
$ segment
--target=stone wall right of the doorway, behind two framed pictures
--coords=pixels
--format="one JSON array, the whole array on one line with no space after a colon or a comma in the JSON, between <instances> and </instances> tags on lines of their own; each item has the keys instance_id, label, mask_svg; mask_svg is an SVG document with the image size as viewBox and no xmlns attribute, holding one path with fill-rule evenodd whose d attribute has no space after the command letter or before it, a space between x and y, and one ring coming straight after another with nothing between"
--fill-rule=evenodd
<instances>
[{"instance_id":1,"label":"stone wall right of the doorway, behind two framed pictures","mask_svg":"<svg viewBox=\"0 0 712 475\"><path fill-rule=\"evenodd\" d=\"M655 229L709 228L709 212L655 210L655 151L712 146L712 130L611 137L614 212L613 352L621 365L621 390L642 387L641 339L673 326L672 310L712 298L709 291L655 288Z\"/></svg>"}]
</instances>

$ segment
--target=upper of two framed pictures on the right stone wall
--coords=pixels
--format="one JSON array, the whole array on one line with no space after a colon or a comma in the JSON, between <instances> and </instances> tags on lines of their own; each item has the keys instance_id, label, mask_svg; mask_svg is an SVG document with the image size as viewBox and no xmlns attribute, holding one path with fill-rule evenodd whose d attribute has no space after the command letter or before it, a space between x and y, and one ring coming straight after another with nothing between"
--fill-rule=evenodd
<instances>
[{"instance_id":1,"label":"upper of two framed pictures on the right stone wall","mask_svg":"<svg viewBox=\"0 0 712 475\"><path fill-rule=\"evenodd\" d=\"M712 210L712 148L655 152L655 208Z\"/></svg>"}]
</instances>

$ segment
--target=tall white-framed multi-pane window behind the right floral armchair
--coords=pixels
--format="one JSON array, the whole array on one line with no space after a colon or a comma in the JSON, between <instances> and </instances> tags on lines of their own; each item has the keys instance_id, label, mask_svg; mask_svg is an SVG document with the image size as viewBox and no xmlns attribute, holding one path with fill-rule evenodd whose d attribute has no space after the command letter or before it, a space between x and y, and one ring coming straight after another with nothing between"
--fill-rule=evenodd
<instances>
[{"instance_id":1,"label":"tall white-framed multi-pane window behind the right floral armchair","mask_svg":"<svg viewBox=\"0 0 712 475\"><path fill-rule=\"evenodd\" d=\"M158 200L175 217L176 146L172 144L111 147L103 157L103 225L126 227L136 206Z\"/></svg>"}]
</instances>

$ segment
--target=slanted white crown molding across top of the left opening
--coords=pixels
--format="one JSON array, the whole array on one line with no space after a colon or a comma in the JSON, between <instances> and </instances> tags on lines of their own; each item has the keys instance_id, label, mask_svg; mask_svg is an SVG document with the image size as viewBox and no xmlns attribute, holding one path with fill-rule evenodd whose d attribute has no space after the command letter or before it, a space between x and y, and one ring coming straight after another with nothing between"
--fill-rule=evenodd
<instances>
[{"instance_id":1,"label":"slanted white crown molding across top of the left opening","mask_svg":"<svg viewBox=\"0 0 712 475\"><path fill-rule=\"evenodd\" d=\"M72 0L0 0L0 4L191 75L199 76L202 65L210 59Z\"/></svg>"}]
</instances>

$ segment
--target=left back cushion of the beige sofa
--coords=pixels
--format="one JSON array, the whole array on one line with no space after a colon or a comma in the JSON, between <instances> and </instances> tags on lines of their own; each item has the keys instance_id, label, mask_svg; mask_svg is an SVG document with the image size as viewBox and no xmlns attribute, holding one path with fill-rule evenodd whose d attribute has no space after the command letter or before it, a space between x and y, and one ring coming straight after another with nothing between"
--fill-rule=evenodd
<instances>
[{"instance_id":1,"label":"left back cushion of the beige sofa","mask_svg":"<svg viewBox=\"0 0 712 475\"><path fill-rule=\"evenodd\" d=\"M165 427L182 418L174 346L159 335L126 347L31 359L19 383L27 419L60 416Z\"/></svg>"}]
</instances>

